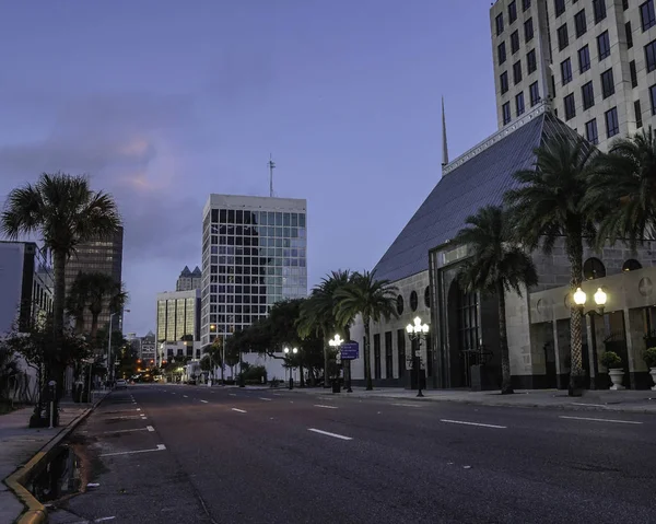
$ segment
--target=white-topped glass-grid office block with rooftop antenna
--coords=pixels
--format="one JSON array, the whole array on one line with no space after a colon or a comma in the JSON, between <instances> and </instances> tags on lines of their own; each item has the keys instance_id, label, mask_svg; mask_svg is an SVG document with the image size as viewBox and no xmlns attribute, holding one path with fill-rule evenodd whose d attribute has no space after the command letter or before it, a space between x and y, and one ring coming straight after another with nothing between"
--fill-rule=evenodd
<instances>
[{"instance_id":1,"label":"white-topped glass-grid office block with rooftop antenna","mask_svg":"<svg viewBox=\"0 0 656 524\"><path fill-rule=\"evenodd\" d=\"M307 295L305 199L210 195L202 217L202 346Z\"/></svg>"}]
</instances>

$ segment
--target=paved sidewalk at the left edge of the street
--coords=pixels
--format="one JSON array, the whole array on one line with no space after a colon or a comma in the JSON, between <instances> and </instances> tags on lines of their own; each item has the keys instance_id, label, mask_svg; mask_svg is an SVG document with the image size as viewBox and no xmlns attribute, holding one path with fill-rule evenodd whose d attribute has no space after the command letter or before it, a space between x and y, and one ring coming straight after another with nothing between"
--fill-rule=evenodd
<instances>
[{"instance_id":1,"label":"paved sidewalk at the left edge of the street","mask_svg":"<svg viewBox=\"0 0 656 524\"><path fill-rule=\"evenodd\" d=\"M97 403L103 395L96 395ZM24 466L42 447L69 429L71 422L81 417L92 406L61 401L59 427L28 428L33 407L22 408L0 416L0 479L7 479L12 473ZM14 522L25 508L4 482L0 482L0 523Z\"/></svg>"}]
</instances>

